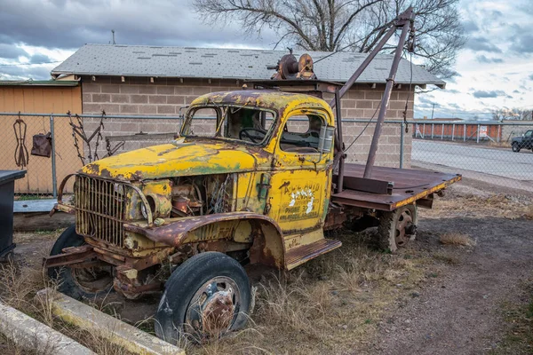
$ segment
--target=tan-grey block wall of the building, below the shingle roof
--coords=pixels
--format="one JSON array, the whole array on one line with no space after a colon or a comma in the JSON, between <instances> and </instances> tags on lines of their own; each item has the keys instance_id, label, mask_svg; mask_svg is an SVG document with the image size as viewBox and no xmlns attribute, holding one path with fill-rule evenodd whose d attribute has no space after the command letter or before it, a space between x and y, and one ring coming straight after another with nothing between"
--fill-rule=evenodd
<instances>
[{"instance_id":1,"label":"tan-grey block wall of the building, below the shingle roof","mask_svg":"<svg viewBox=\"0 0 533 355\"><path fill-rule=\"evenodd\" d=\"M242 81L218 79L179 79L155 78L150 83L149 78L91 77L82 78L82 101L84 114L99 114L105 110L107 114L120 115L151 115L172 116L162 119L107 119L105 120L104 136L133 135L143 133L168 133L179 130L179 107L187 106L196 97L209 92L240 90ZM343 116L344 142L349 146L354 138L359 136L348 150L347 162L366 162L370 148L370 141L374 133L374 122L378 119L379 104L385 85L377 85L375 89L370 85L356 84L341 100ZM391 94L386 120L402 120L406 102L408 102L407 119L413 118L413 91L408 86L394 89ZM326 95L328 102L332 95ZM373 122L353 122L357 119ZM85 119L88 131L97 127L99 119ZM366 128L365 128L366 127ZM411 128L412 126L410 126ZM400 162L400 132L398 123L385 122L379 140L376 162L378 165L398 167ZM404 167L410 166L411 134L404 134ZM137 149L142 146L160 142L127 142L125 150ZM123 150L121 150L123 151ZM119 151L120 152L120 151Z\"/></svg>"}]
</instances>

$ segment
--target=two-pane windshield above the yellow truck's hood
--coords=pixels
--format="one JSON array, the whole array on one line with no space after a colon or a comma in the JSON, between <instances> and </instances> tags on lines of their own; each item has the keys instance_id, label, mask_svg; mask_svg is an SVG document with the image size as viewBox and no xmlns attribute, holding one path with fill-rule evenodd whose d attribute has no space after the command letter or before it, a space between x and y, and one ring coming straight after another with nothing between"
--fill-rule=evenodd
<instances>
[{"instance_id":1,"label":"two-pane windshield above the yellow truck's hood","mask_svg":"<svg viewBox=\"0 0 533 355\"><path fill-rule=\"evenodd\" d=\"M193 107L181 129L181 136L230 138L251 144L264 144L273 127L272 111L245 106Z\"/></svg>"}]
</instances>

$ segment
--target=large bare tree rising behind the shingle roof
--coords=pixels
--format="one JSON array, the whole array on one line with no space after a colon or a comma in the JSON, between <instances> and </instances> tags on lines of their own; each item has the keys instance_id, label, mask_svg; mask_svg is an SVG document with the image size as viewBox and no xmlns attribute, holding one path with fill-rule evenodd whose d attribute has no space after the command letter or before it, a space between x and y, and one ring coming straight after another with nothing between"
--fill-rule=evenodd
<instances>
[{"instance_id":1,"label":"large bare tree rising behind the shingle roof","mask_svg":"<svg viewBox=\"0 0 533 355\"><path fill-rule=\"evenodd\" d=\"M272 28L276 43L306 51L346 49L367 53L385 36L396 16L416 12L416 56L426 69L453 76L457 51L465 43L458 0L194 0L208 23L237 21L247 32ZM275 47L274 47L275 48ZM394 51L394 43L383 51Z\"/></svg>"}]
</instances>

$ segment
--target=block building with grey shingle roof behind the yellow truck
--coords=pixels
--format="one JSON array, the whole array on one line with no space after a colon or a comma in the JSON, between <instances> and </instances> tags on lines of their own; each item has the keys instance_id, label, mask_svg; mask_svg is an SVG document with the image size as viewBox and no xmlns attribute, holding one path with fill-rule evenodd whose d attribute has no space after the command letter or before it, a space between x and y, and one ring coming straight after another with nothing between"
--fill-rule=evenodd
<instances>
[{"instance_id":1,"label":"block building with grey shingle roof behind the yellow truck","mask_svg":"<svg viewBox=\"0 0 533 355\"><path fill-rule=\"evenodd\" d=\"M304 51L295 51L298 57ZM346 83L366 54L310 51L318 79ZM182 106L208 92L240 90L245 80L269 79L286 51L231 50L216 48L156 47L135 45L86 44L52 70L55 79L79 80L82 84L83 114L177 116ZM373 124L354 122L377 118L393 56L378 55L341 101L348 162L365 162ZM413 118L415 87L445 83L423 67L402 59L391 96L388 120L402 120L407 103L407 119ZM330 99L330 98L324 98ZM98 119L85 119L91 129ZM136 117L109 118L106 135L139 132L161 133L179 130L179 120ZM377 163L398 166L400 160L399 124L385 124L380 139ZM410 135L404 138L404 166L410 166ZM128 146L129 149L137 146Z\"/></svg>"}]
</instances>

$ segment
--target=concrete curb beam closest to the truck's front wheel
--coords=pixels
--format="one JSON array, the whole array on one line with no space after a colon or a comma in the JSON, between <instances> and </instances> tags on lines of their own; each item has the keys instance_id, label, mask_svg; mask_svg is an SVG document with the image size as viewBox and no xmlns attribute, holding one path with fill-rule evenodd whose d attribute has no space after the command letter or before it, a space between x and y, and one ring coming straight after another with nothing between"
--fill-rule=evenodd
<instances>
[{"instance_id":1,"label":"concrete curb beam closest to the truck's front wheel","mask_svg":"<svg viewBox=\"0 0 533 355\"><path fill-rule=\"evenodd\" d=\"M52 313L64 321L142 355L185 355L185 351L136 327L115 319L74 298L44 288L38 297L52 297Z\"/></svg>"}]
</instances>

